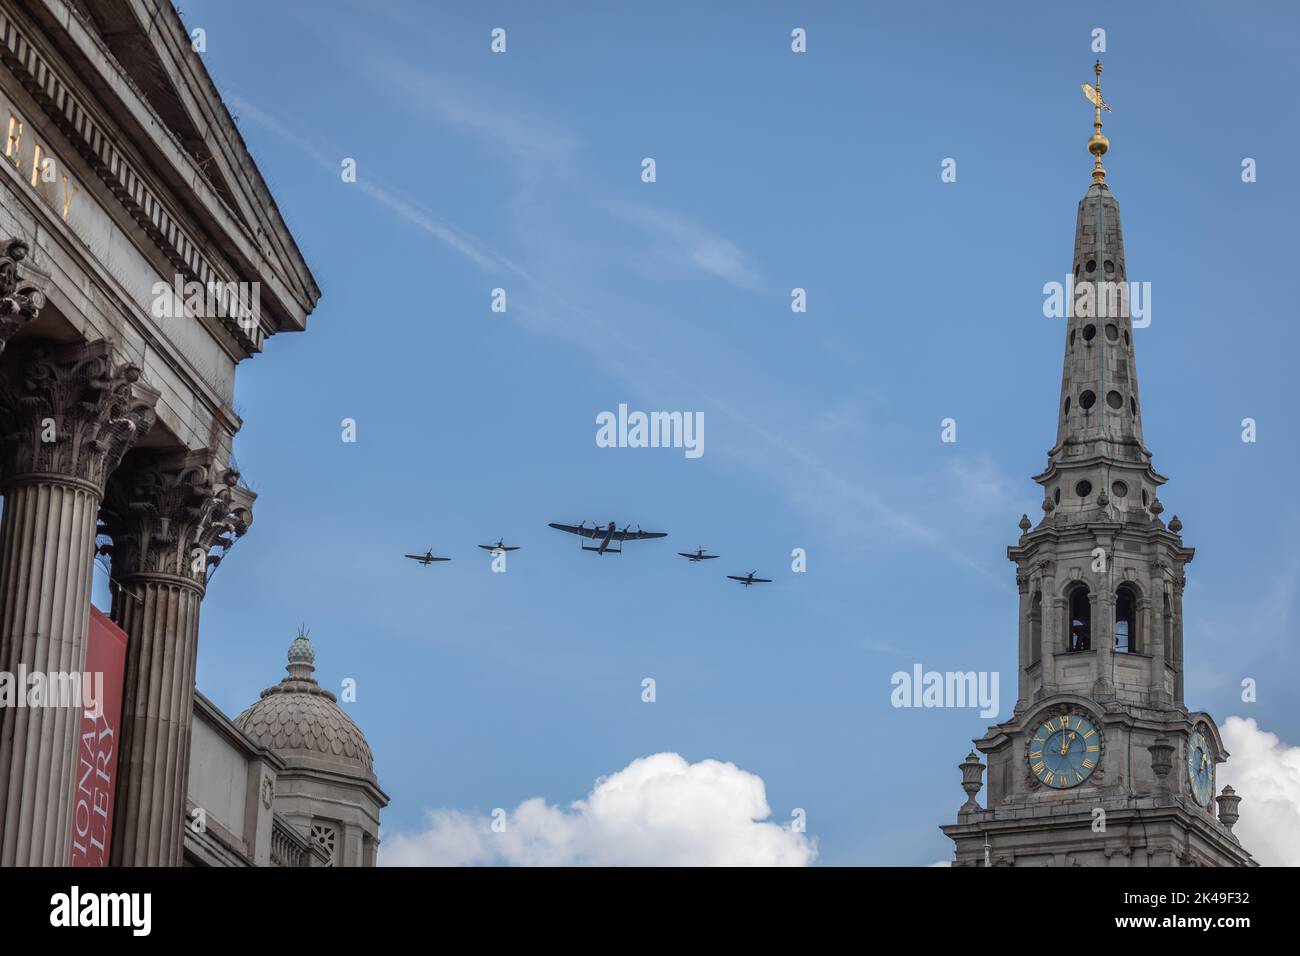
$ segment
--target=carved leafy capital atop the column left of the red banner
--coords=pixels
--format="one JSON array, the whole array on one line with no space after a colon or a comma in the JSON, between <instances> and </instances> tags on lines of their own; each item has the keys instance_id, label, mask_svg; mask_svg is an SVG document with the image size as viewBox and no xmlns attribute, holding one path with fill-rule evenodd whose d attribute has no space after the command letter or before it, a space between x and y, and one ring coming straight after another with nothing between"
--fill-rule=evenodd
<instances>
[{"instance_id":1,"label":"carved leafy capital atop the column left of the red banner","mask_svg":"<svg viewBox=\"0 0 1300 956\"><path fill-rule=\"evenodd\" d=\"M157 389L113 359L112 342L23 342L0 355L4 480L82 484L104 480L153 425Z\"/></svg>"}]
</instances>

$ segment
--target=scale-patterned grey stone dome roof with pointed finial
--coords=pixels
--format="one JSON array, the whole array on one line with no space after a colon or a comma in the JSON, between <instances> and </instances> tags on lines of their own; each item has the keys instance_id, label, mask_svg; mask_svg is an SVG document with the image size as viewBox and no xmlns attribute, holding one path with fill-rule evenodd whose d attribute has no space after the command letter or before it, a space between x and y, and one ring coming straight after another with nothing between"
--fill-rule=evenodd
<instances>
[{"instance_id":1,"label":"scale-patterned grey stone dome roof with pointed finial","mask_svg":"<svg viewBox=\"0 0 1300 956\"><path fill-rule=\"evenodd\" d=\"M315 661L316 649L300 632L289 648L289 676L263 691L261 698L235 718L235 726L291 765L374 779L365 735L334 695L316 683Z\"/></svg>"}]
</instances>

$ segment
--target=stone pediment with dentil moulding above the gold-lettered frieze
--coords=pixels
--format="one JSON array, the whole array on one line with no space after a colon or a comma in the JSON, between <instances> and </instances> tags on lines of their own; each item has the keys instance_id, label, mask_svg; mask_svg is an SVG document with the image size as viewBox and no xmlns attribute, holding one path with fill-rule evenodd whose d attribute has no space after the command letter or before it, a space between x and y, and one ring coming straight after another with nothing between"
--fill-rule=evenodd
<instances>
[{"instance_id":1,"label":"stone pediment with dentil moulding above the gold-lettered frieze","mask_svg":"<svg viewBox=\"0 0 1300 956\"><path fill-rule=\"evenodd\" d=\"M64 61L51 64L53 75L62 66L69 74L64 86L77 98L92 98L86 105L99 118L90 124L79 114L70 118L75 111L57 90L47 108L74 138L101 127L107 148L121 155L99 156L100 168L124 181L126 199L138 200L131 215L146 232L168 239L168 258L200 281L212 278L209 273L221 281L259 281L268 334L306 328L320 289L172 3L32 0L23 14ZM18 29L23 31L21 21ZM25 85L57 86L39 62L43 59L39 47L18 57L18 70L35 70L34 77L21 77ZM100 143L92 139L77 147L101 153ZM118 191L118 185L110 187ZM174 230L159 225L155 209L172 213L186 233L183 242L172 242ZM195 251L226 261L209 256L211 261L196 263ZM260 336L248 345L260 349Z\"/></svg>"}]
</instances>

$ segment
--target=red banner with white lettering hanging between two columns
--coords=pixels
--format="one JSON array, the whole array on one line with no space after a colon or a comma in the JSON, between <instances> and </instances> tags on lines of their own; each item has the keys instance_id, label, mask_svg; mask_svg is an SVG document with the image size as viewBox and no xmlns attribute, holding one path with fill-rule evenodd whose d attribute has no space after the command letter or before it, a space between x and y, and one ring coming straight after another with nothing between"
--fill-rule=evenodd
<instances>
[{"instance_id":1,"label":"red banner with white lettering hanging between two columns","mask_svg":"<svg viewBox=\"0 0 1300 956\"><path fill-rule=\"evenodd\" d=\"M82 710L81 741L77 748L73 866L108 866L125 667L126 632L92 605L86 672L82 675L82 682L88 682L92 692L87 697L91 706Z\"/></svg>"}]
</instances>

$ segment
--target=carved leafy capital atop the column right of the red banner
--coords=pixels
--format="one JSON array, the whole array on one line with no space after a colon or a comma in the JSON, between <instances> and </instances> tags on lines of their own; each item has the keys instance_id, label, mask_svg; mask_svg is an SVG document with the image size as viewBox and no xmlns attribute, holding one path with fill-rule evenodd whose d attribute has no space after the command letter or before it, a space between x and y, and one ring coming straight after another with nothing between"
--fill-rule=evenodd
<instances>
[{"instance_id":1,"label":"carved leafy capital atop the column right of the red banner","mask_svg":"<svg viewBox=\"0 0 1300 956\"><path fill-rule=\"evenodd\" d=\"M211 450L131 451L108 480L100 531L113 544L100 550L120 581L166 576L202 592L208 568L252 524L255 498Z\"/></svg>"}]
</instances>

